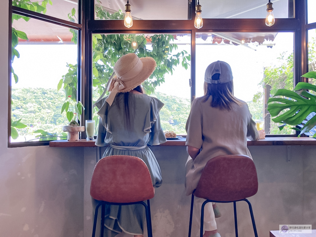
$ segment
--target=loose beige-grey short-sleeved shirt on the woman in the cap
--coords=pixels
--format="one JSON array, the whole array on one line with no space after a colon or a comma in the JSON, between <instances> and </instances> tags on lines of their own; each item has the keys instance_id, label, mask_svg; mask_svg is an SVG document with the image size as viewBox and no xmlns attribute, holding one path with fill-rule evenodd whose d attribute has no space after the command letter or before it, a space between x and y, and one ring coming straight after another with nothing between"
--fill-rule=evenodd
<instances>
[{"instance_id":1,"label":"loose beige-grey short-sleeved shirt on the woman in the cap","mask_svg":"<svg viewBox=\"0 0 316 237\"><path fill-rule=\"evenodd\" d=\"M186 164L186 195L196 189L207 161L220 155L251 157L247 138L255 141L260 137L246 102L240 100L242 106L233 104L228 111L211 107L212 96L206 101L204 98L193 100L185 127L185 145L201 149L195 160Z\"/></svg>"}]
</instances>

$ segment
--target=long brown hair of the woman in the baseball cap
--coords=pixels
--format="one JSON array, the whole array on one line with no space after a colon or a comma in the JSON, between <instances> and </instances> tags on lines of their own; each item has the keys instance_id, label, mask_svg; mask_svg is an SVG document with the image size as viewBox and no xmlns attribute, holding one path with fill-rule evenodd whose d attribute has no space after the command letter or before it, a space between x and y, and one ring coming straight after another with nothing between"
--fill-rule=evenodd
<instances>
[{"instance_id":1,"label":"long brown hair of the woman in the baseball cap","mask_svg":"<svg viewBox=\"0 0 316 237\"><path fill-rule=\"evenodd\" d=\"M219 79L218 73L212 76L212 80L217 80L217 77ZM218 84L204 82L204 96L204 101L212 96L211 106L219 109L231 110L232 103L239 106L242 105L242 103L234 97L233 81Z\"/></svg>"}]
</instances>

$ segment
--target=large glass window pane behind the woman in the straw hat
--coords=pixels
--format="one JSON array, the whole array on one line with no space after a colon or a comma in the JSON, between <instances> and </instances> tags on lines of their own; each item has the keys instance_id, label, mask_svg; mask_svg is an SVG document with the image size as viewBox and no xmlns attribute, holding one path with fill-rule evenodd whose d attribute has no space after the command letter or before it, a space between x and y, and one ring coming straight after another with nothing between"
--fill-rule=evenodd
<instances>
[{"instance_id":1,"label":"large glass window pane behind the woman in the straw hat","mask_svg":"<svg viewBox=\"0 0 316 237\"><path fill-rule=\"evenodd\" d=\"M136 43L134 48L133 42ZM131 52L136 52L139 57L152 57L157 67L153 75L143 83L145 93L165 103L160 112L163 130L185 134L191 104L190 34L94 34L93 52L94 102L104 92L119 57ZM97 110L94 107L93 119L96 125Z\"/></svg>"}]
</instances>

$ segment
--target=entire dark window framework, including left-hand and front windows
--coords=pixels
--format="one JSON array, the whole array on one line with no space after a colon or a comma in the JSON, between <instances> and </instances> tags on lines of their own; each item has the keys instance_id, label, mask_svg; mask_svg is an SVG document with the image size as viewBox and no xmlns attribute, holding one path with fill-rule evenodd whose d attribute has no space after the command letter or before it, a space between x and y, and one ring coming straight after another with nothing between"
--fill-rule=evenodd
<instances>
[{"instance_id":1,"label":"entire dark window framework, including left-hand and front windows","mask_svg":"<svg viewBox=\"0 0 316 237\"><path fill-rule=\"evenodd\" d=\"M9 3L10 4L10 3ZM188 16L195 16L195 1L189 3ZM12 5L12 4L11 4ZM307 24L307 0L296 0L294 2L294 18L278 18L276 23L268 27L264 19L203 19L204 26L201 29L194 27L194 17L191 20L135 20L131 28L126 28L123 20L94 20L94 0L82 0L78 12L81 14L81 24L54 19L54 17L33 13L24 9L17 9L9 6L9 17L12 13L39 17L40 20L54 24L63 24L70 28L79 29L78 56L81 58L80 77L78 76L81 99L86 110L82 115L81 123L92 119L92 34L93 33L190 33L191 34L191 98L195 95L195 33L198 32L293 32L294 33L294 85L298 82L306 81L301 75L308 71L308 49L307 30L316 28L316 23ZM30 14L30 15L27 15ZM82 30L81 30L82 29ZM11 98L11 19L9 19L9 101ZM80 61L80 60L78 60ZM79 63L79 62L78 62ZM80 68L80 67L78 67ZM8 138L10 136L11 106L9 103L8 116ZM85 133L81 133L81 138L85 138ZM292 136L292 135L271 135L271 136ZM296 136L296 135L293 135ZM47 145L48 142L32 143L9 143L9 147L20 147L30 145Z\"/></svg>"}]
</instances>

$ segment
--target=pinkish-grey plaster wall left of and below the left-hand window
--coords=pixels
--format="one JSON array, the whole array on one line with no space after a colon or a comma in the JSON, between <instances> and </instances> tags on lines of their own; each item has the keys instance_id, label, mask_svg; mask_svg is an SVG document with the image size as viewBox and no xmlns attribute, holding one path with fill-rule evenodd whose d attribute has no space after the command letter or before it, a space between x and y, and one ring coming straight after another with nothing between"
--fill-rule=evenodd
<instances>
[{"instance_id":1,"label":"pinkish-grey plaster wall left of and below the left-hand window","mask_svg":"<svg viewBox=\"0 0 316 237\"><path fill-rule=\"evenodd\" d=\"M0 8L0 236L83 236L83 148L8 148L8 1Z\"/></svg>"}]
</instances>

